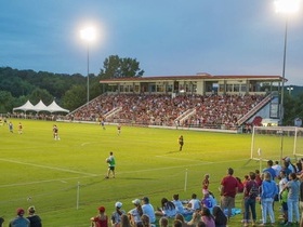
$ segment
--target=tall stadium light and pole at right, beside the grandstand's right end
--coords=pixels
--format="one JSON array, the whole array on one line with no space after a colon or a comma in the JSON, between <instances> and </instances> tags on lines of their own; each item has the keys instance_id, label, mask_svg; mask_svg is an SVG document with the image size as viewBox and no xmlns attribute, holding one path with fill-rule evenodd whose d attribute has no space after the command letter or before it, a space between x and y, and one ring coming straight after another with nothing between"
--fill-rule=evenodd
<instances>
[{"instance_id":1,"label":"tall stadium light and pole at right, beside the grandstand's right end","mask_svg":"<svg viewBox=\"0 0 303 227\"><path fill-rule=\"evenodd\" d=\"M288 31L288 16L299 11L301 0L276 0L275 8L277 13L282 13L286 16L285 21L285 41L284 41L284 64L282 64L282 88L281 102L279 108L280 124L284 121L284 90L285 90L285 71L286 71L286 52L287 52L287 31Z\"/></svg>"}]
</instances>

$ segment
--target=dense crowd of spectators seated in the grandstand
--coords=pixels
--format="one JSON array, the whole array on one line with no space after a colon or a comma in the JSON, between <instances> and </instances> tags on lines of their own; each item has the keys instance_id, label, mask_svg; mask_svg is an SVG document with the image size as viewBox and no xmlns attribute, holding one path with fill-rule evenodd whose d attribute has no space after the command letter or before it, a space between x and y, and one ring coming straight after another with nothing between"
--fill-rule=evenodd
<instances>
[{"instance_id":1,"label":"dense crowd of spectators seated in the grandstand","mask_svg":"<svg viewBox=\"0 0 303 227\"><path fill-rule=\"evenodd\" d=\"M263 95L177 95L110 94L101 95L67 116L69 120L96 121L137 125L162 125L211 129L237 129L237 121ZM113 115L110 110L121 108ZM192 114L177 120L186 111ZM189 111L190 112L190 111ZM193 114L194 112L194 114Z\"/></svg>"}]
</instances>

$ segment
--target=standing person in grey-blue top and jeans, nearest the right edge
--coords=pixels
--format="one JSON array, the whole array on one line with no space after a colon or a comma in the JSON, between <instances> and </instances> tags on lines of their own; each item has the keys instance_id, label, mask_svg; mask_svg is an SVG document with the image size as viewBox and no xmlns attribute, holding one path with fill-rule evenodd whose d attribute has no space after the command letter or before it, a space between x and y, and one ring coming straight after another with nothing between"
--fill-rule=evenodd
<instances>
[{"instance_id":1,"label":"standing person in grey-blue top and jeans, nearest the right edge","mask_svg":"<svg viewBox=\"0 0 303 227\"><path fill-rule=\"evenodd\" d=\"M299 214L299 197L300 197L300 182L297 177L295 173L291 173L289 175L289 182L286 184L285 189L288 189L288 225L292 225L293 215L295 217L295 222L300 222L300 214Z\"/></svg>"}]
</instances>

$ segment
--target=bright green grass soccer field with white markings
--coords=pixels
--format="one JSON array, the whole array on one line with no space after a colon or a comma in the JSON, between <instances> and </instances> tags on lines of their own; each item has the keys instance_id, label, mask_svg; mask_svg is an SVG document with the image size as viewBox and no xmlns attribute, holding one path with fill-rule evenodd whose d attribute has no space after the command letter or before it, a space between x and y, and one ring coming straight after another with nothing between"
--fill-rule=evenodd
<instances>
[{"instance_id":1,"label":"bright green grass soccer field with white markings","mask_svg":"<svg viewBox=\"0 0 303 227\"><path fill-rule=\"evenodd\" d=\"M162 197L180 193L181 200L195 192L201 198L201 181L210 174L210 190L219 199L221 178L227 168L243 178L260 168L250 160L251 135L183 130L51 122L11 119L14 133L0 126L0 216L4 226L16 208L35 205L48 227L84 227L96 208L105 205L110 215L116 201L123 210L131 201L147 196L154 208ZM18 122L23 134L17 133ZM53 124L61 139L54 141ZM183 151L177 137L184 136ZM105 159L116 157L116 178L105 179ZM279 159L273 152L273 160ZM265 166L265 163L263 163ZM264 168L263 166L263 168ZM241 196L237 199L240 208ZM259 215L260 217L260 215ZM240 226L241 215L229 226Z\"/></svg>"}]
</instances>

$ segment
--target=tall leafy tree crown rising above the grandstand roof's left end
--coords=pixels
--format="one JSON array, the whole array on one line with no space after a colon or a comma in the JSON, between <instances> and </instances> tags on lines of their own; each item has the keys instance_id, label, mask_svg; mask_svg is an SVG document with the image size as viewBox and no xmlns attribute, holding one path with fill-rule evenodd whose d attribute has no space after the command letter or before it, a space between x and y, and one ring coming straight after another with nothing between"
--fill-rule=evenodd
<instances>
[{"instance_id":1,"label":"tall leafy tree crown rising above the grandstand roof's left end","mask_svg":"<svg viewBox=\"0 0 303 227\"><path fill-rule=\"evenodd\" d=\"M144 70L141 70L140 63L135 58L110 55L104 61L98 77L100 79L131 78L142 77L143 74Z\"/></svg>"}]
</instances>

